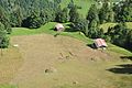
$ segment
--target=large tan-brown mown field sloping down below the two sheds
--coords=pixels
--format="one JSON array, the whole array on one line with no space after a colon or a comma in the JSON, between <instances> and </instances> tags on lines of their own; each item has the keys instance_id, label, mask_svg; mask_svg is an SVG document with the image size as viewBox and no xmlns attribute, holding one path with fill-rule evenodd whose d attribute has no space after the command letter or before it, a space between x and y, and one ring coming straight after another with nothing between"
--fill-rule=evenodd
<instances>
[{"instance_id":1,"label":"large tan-brown mown field sloping down below the two sheds","mask_svg":"<svg viewBox=\"0 0 132 88\"><path fill-rule=\"evenodd\" d=\"M12 36L12 44L19 44L24 58L19 73L10 84L19 88L123 88L131 87L131 76L110 73L122 62L119 55L97 51L85 42L68 36L54 37L50 34ZM45 73L53 68L55 72ZM103 73L103 75L102 75ZM114 80L113 80L114 78Z\"/></svg>"}]
</instances>

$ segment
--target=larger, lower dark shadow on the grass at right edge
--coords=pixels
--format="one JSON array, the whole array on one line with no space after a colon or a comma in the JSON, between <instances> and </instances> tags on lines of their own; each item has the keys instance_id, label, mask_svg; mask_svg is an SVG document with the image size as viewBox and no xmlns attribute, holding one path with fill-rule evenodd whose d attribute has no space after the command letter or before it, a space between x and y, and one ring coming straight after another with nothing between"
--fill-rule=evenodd
<instances>
[{"instance_id":1,"label":"larger, lower dark shadow on the grass at right edge","mask_svg":"<svg viewBox=\"0 0 132 88\"><path fill-rule=\"evenodd\" d=\"M132 74L132 64L117 65L118 67L107 69L114 74Z\"/></svg>"}]
</instances>

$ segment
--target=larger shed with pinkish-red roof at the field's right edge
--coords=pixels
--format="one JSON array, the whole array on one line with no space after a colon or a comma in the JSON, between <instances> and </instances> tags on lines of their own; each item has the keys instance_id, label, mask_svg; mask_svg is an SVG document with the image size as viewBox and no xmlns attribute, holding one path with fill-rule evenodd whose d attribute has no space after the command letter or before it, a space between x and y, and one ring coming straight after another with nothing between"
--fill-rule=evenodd
<instances>
[{"instance_id":1,"label":"larger shed with pinkish-red roof at the field's right edge","mask_svg":"<svg viewBox=\"0 0 132 88\"><path fill-rule=\"evenodd\" d=\"M95 40L95 45L96 45L97 48L105 48L105 47L108 46L106 41L102 40L102 38L96 38Z\"/></svg>"}]
</instances>

